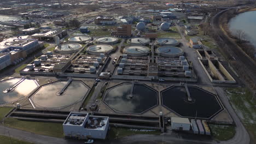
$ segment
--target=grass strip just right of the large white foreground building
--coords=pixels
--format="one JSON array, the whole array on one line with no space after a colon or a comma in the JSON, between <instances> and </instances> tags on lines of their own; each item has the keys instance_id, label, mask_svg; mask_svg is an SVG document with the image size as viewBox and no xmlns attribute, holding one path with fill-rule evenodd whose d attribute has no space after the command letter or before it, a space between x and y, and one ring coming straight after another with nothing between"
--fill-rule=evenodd
<instances>
[{"instance_id":1,"label":"grass strip just right of the large white foreground building","mask_svg":"<svg viewBox=\"0 0 256 144\"><path fill-rule=\"evenodd\" d=\"M160 135L161 131L158 131L158 130L141 131L139 129L110 127L108 131L107 139L109 140L121 139L122 137L125 137L125 136L137 135L137 134Z\"/></svg>"}]
</instances>

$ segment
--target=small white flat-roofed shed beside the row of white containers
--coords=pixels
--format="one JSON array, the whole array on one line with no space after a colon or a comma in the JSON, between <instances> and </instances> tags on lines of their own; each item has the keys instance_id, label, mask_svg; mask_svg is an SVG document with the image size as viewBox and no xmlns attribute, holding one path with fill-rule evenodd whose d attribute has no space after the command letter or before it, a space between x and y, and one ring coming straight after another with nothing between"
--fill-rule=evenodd
<instances>
[{"instance_id":1,"label":"small white flat-roofed shed beside the row of white containers","mask_svg":"<svg viewBox=\"0 0 256 144\"><path fill-rule=\"evenodd\" d=\"M190 122L188 118L171 117L172 130L185 130L189 131Z\"/></svg>"}]
</instances>

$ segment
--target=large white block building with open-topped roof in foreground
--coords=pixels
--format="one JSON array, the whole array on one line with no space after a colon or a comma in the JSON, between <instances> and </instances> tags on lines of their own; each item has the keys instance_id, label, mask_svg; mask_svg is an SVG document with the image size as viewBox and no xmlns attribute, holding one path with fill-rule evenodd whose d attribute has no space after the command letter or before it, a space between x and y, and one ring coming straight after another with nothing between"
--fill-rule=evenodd
<instances>
[{"instance_id":1,"label":"large white block building with open-topped roof in foreground","mask_svg":"<svg viewBox=\"0 0 256 144\"><path fill-rule=\"evenodd\" d=\"M63 123L66 137L79 139L106 139L109 127L108 117L89 116L88 113L71 112Z\"/></svg>"}]
</instances>

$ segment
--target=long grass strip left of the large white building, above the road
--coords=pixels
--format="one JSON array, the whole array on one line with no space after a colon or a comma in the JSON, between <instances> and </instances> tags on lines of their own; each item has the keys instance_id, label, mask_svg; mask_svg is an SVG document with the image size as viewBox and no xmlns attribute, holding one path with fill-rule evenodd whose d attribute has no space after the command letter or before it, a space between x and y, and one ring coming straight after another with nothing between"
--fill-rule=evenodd
<instances>
[{"instance_id":1,"label":"long grass strip left of the large white building, above the road","mask_svg":"<svg viewBox=\"0 0 256 144\"><path fill-rule=\"evenodd\" d=\"M21 121L15 118L5 118L4 125L10 128L30 131L31 133L35 133L38 135L46 135L60 138L64 136L62 123L31 122Z\"/></svg>"}]
</instances>

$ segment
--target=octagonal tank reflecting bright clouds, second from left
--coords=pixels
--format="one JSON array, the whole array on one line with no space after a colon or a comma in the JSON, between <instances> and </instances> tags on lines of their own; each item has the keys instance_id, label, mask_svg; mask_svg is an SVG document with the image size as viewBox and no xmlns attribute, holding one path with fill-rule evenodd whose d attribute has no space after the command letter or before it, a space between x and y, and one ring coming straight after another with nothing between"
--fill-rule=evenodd
<instances>
[{"instance_id":1,"label":"octagonal tank reflecting bright clouds, second from left","mask_svg":"<svg viewBox=\"0 0 256 144\"><path fill-rule=\"evenodd\" d=\"M38 108L62 109L82 101L88 91L82 81L57 81L41 86L30 99Z\"/></svg>"}]
</instances>

